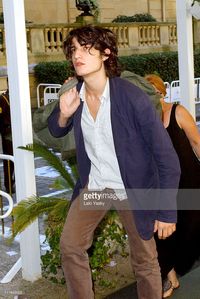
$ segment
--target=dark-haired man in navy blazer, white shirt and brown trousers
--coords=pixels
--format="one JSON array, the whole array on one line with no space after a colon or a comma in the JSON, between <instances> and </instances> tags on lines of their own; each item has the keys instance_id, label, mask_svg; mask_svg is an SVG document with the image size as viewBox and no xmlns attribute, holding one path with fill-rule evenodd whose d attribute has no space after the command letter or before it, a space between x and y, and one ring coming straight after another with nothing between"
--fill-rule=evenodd
<instances>
[{"instance_id":1,"label":"dark-haired man in navy blazer, white shirt and brown trousers","mask_svg":"<svg viewBox=\"0 0 200 299\"><path fill-rule=\"evenodd\" d=\"M153 233L163 239L171 235L176 211L158 211L154 204L147 210L132 208L139 199L137 190L143 196L153 188L177 188L178 158L148 96L119 78L112 31L90 25L74 29L64 42L64 52L83 81L60 96L48 118L55 137L74 128L80 175L61 236L69 298L94 298L87 249L95 228L114 206L128 234L138 297L161 299ZM175 202L175 195L165 195L165 203ZM95 206L97 198L102 199L102 207Z\"/></svg>"}]
</instances>

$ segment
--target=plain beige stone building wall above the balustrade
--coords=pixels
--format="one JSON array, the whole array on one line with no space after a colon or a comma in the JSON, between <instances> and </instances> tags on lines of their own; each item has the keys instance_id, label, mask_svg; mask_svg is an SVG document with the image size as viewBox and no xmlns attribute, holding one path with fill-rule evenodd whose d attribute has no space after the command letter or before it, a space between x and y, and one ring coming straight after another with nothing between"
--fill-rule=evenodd
<instances>
[{"instance_id":1,"label":"plain beige stone building wall above the balustrade","mask_svg":"<svg viewBox=\"0 0 200 299\"><path fill-rule=\"evenodd\" d=\"M176 20L176 0L96 0L98 21L109 23L118 15L150 13L157 21ZM34 24L73 23L80 15L75 0L24 0L26 21ZM33 5L34 4L34 5ZM2 12L0 0L0 12Z\"/></svg>"}]
</instances>

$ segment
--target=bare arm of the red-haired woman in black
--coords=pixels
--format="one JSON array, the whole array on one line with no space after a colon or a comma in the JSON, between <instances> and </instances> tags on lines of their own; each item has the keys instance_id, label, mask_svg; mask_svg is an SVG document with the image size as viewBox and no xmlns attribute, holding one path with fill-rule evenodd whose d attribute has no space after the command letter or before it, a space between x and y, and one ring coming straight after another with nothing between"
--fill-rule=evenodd
<instances>
[{"instance_id":1,"label":"bare arm of the red-haired woman in black","mask_svg":"<svg viewBox=\"0 0 200 299\"><path fill-rule=\"evenodd\" d=\"M200 133L192 115L182 105L178 105L176 108L176 120L184 130L198 159L200 159Z\"/></svg>"}]
</instances>

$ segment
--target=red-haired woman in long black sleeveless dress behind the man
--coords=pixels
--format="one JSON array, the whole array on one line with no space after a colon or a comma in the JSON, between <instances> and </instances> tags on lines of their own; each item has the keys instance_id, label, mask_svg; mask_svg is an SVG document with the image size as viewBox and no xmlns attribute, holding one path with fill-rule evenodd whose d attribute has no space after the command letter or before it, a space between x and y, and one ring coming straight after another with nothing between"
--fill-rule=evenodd
<instances>
[{"instance_id":1,"label":"red-haired woman in long black sleeveless dress behind the man","mask_svg":"<svg viewBox=\"0 0 200 299\"><path fill-rule=\"evenodd\" d=\"M166 88L162 79L155 74L145 78L162 95L162 121L181 166L176 231L166 240L155 235L163 298L168 298L179 287L178 275L186 274L200 257L200 133L189 111L180 104L164 101Z\"/></svg>"}]
</instances>

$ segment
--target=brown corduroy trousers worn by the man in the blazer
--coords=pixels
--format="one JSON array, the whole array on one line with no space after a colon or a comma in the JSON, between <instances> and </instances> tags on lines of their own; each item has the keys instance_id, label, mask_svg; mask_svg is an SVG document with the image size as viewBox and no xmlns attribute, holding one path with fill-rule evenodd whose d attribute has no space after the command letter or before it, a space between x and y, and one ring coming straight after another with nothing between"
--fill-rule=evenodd
<instances>
[{"instance_id":1,"label":"brown corduroy trousers worn by the man in the blazer","mask_svg":"<svg viewBox=\"0 0 200 299\"><path fill-rule=\"evenodd\" d=\"M62 267L70 299L93 299L93 284L87 250L92 245L96 227L112 206L119 213L127 232L131 264L137 281L139 299L161 299L162 283L154 238L143 240L135 227L128 201L107 200L106 207L83 206L81 196L70 207L61 235ZM121 208L122 206L122 208Z\"/></svg>"}]
</instances>

